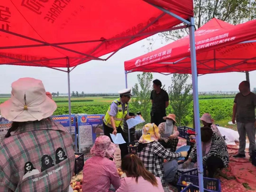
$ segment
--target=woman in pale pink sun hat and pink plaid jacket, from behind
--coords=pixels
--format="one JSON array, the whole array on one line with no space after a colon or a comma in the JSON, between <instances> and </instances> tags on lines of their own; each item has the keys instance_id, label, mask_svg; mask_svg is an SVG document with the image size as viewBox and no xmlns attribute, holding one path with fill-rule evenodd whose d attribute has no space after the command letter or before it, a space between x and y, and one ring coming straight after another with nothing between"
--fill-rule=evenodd
<instances>
[{"instance_id":1,"label":"woman in pale pink sun hat and pink plaid jacket, from behind","mask_svg":"<svg viewBox=\"0 0 256 192\"><path fill-rule=\"evenodd\" d=\"M73 141L66 129L50 118L56 108L56 103L45 94L41 80L21 78L12 83L11 98L0 105L2 116L12 122L0 143L0 170L4 172L0 181L8 181L2 182L0 191L68 191L75 166ZM33 178L22 180L28 161L40 170L41 158L47 155L45 162L49 162L59 147L68 157L61 162L62 169L52 164L47 170L35 173ZM58 172L53 173L47 183L42 179L30 185L32 179L43 178L47 171L56 169Z\"/></svg>"}]
</instances>

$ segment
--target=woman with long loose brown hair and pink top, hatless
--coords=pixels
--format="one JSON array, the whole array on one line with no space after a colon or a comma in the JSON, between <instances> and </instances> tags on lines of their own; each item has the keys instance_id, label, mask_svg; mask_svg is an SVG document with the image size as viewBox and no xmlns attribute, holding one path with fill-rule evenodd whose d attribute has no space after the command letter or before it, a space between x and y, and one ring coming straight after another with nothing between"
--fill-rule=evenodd
<instances>
[{"instance_id":1,"label":"woman with long loose brown hair and pink top, hatless","mask_svg":"<svg viewBox=\"0 0 256 192\"><path fill-rule=\"evenodd\" d=\"M124 174L121 175L121 186L116 192L164 192L160 178L148 172L135 155L126 155L121 168Z\"/></svg>"}]
</instances>

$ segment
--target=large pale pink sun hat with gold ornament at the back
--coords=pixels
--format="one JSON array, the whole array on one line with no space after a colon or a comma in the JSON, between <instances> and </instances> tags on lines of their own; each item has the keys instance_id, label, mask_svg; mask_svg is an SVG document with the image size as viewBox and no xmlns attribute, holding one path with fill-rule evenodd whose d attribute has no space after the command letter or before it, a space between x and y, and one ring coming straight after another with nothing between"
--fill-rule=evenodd
<instances>
[{"instance_id":1,"label":"large pale pink sun hat with gold ornament at the back","mask_svg":"<svg viewBox=\"0 0 256 192\"><path fill-rule=\"evenodd\" d=\"M16 122L40 121L56 109L56 103L45 94L42 81L34 78L13 82L11 98L0 105L1 115Z\"/></svg>"}]
</instances>

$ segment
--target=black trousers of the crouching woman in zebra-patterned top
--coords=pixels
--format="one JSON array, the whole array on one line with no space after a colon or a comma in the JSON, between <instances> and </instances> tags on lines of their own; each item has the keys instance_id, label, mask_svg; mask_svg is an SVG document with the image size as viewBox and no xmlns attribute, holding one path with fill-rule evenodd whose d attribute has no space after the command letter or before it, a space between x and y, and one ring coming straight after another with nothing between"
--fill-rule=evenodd
<instances>
[{"instance_id":1,"label":"black trousers of the crouching woman in zebra-patterned top","mask_svg":"<svg viewBox=\"0 0 256 192\"><path fill-rule=\"evenodd\" d=\"M209 178L214 177L214 174L217 172L217 169L221 169L224 167L222 159L213 155L207 159L206 166Z\"/></svg>"}]
</instances>

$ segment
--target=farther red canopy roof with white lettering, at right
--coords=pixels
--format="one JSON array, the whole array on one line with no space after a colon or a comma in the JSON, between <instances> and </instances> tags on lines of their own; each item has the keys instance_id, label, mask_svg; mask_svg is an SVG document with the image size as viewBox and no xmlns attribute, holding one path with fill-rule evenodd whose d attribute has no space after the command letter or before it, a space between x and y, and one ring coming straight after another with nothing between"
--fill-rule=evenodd
<instances>
[{"instance_id":1,"label":"farther red canopy roof with white lettering, at right","mask_svg":"<svg viewBox=\"0 0 256 192\"><path fill-rule=\"evenodd\" d=\"M256 70L256 20L231 25L212 19L195 32L198 74ZM178 61L178 62L177 62ZM125 61L126 71L191 74L189 36Z\"/></svg>"}]
</instances>

